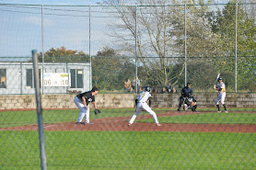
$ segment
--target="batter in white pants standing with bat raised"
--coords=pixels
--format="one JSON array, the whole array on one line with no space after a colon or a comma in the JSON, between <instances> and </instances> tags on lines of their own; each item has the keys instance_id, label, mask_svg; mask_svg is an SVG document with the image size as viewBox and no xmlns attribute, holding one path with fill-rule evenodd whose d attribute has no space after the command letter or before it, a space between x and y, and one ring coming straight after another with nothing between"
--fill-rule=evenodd
<instances>
[{"instance_id":1,"label":"batter in white pants standing with bat raised","mask_svg":"<svg viewBox=\"0 0 256 170\"><path fill-rule=\"evenodd\" d=\"M222 78L219 77L218 78L218 83L217 85L215 85L215 90L217 90L218 95L215 98L215 105L218 108L218 113L221 112L220 108L219 108L219 102L223 105L225 112L227 113L227 108L226 108L226 104L224 103L225 97L226 97L226 86L225 84L222 82Z\"/></svg>"}]
</instances>

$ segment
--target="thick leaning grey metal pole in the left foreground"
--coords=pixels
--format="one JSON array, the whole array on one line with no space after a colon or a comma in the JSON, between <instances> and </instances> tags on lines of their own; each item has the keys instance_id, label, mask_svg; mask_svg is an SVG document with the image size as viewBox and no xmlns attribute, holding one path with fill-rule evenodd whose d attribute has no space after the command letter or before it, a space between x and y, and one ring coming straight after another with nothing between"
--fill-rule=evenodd
<instances>
[{"instance_id":1,"label":"thick leaning grey metal pole in the left foreground","mask_svg":"<svg viewBox=\"0 0 256 170\"><path fill-rule=\"evenodd\" d=\"M39 127L39 141L40 141L40 157L41 157L41 170L46 170L46 153L45 153L45 142L44 142L44 131L41 111L41 93L40 93L40 78L39 78L39 65L38 65L38 54L36 50L32 51L33 56L33 71L34 71L34 85L36 91L36 102L37 102L37 115L38 115L38 127Z\"/></svg>"}]
</instances>

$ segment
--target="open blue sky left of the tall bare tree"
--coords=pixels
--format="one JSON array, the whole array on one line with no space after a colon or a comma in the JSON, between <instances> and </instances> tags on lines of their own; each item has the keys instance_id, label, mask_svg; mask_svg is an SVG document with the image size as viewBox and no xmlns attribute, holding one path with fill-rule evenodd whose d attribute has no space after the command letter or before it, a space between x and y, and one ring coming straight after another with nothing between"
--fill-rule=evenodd
<instances>
[{"instance_id":1,"label":"open blue sky left of the tall bare tree","mask_svg":"<svg viewBox=\"0 0 256 170\"><path fill-rule=\"evenodd\" d=\"M114 40L107 36L108 25L121 20L103 13L102 7L97 6L100 2L102 0L8 0L7 4L16 6L3 6L6 0L0 0L0 57L28 57L32 50L48 51L62 46L68 50L91 51L94 55L106 46L111 47ZM227 0L215 2L226 3ZM91 37L88 6L94 6L91 8Z\"/></svg>"}]
</instances>

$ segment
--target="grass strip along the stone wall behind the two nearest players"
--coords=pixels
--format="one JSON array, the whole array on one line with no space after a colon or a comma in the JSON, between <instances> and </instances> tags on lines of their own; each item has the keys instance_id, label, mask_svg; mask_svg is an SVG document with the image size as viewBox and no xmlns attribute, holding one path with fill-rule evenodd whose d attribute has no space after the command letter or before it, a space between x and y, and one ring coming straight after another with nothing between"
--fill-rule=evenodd
<instances>
[{"instance_id":1,"label":"grass strip along the stone wall behind the two nearest players","mask_svg":"<svg viewBox=\"0 0 256 170\"><path fill-rule=\"evenodd\" d=\"M90 119L113 118L132 116L135 108L103 108L99 116L95 116L94 109L90 108ZM156 108L157 113L165 112L167 108ZM44 123L73 122L78 119L78 109L67 110L43 110ZM141 115L147 114L142 112ZM21 125L37 124L37 112L29 111L2 111L0 112L0 128L15 127Z\"/></svg>"}]
</instances>

